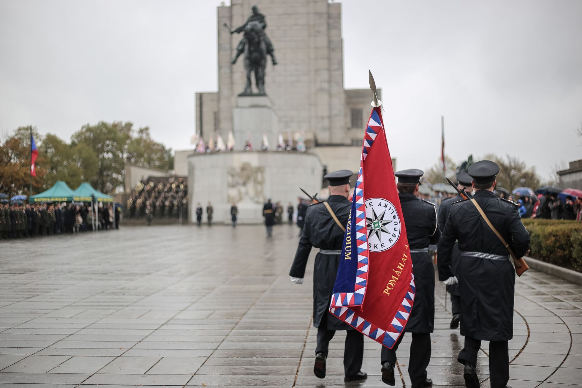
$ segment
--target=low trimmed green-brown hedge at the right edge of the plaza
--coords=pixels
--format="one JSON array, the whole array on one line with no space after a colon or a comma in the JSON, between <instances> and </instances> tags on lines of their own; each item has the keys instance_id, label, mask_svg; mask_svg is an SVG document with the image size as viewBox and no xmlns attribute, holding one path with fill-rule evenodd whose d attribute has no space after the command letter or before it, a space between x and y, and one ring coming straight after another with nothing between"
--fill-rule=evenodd
<instances>
[{"instance_id":1,"label":"low trimmed green-brown hedge at the right edge of the plaza","mask_svg":"<svg viewBox=\"0 0 582 388\"><path fill-rule=\"evenodd\" d=\"M531 236L529 256L582 272L582 223L564 220L524 218Z\"/></svg>"}]
</instances>

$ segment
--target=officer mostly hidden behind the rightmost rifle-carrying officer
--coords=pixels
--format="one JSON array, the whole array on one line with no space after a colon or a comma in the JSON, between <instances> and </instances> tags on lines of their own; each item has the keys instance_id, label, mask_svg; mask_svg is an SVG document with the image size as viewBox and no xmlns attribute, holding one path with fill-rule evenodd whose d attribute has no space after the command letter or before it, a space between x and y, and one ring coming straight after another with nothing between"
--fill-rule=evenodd
<instances>
[{"instance_id":1,"label":"officer mostly hidden behind the rightmost rifle-carrying officer","mask_svg":"<svg viewBox=\"0 0 582 388\"><path fill-rule=\"evenodd\" d=\"M457 174L457 188L459 190L466 190L466 192L473 191L471 188L471 177L467 172L460 172ZM446 219L449 217L450 206L455 203L462 201L463 197L457 194L454 197L450 197L441 202L441 207L438 210L438 224L441 231L445 230ZM455 242L453 246L453 253L450 260L450 270L453 274L459 278L457 273L457 265L459 264L459 259L461 257L461 252L459 251L459 244ZM450 320L450 328L457 329L459 327L459 322L461 320L461 299L459 291L459 283L446 285L446 291L450 294L450 311L453 314L453 318Z\"/></svg>"}]
</instances>

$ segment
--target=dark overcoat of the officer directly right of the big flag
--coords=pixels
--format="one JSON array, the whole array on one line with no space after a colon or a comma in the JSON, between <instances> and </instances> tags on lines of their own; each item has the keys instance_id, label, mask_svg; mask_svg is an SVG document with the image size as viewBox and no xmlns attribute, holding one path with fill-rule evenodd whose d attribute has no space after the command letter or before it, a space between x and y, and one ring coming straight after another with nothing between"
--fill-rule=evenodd
<instances>
[{"instance_id":1,"label":"dark overcoat of the officer directly right of the big flag","mask_svg":"<svg viewBox=\"0 0 582 388\"><path fill-rule=\"evenodd\" d=\"M435 270L428 246L437 244L441 235L437 208L414 194L400 193L398 197L410 251L426 249L426 252L410 252L416 295L405 330L407 333L432 333L435 321Z\"/></svg>"}]
</instances>

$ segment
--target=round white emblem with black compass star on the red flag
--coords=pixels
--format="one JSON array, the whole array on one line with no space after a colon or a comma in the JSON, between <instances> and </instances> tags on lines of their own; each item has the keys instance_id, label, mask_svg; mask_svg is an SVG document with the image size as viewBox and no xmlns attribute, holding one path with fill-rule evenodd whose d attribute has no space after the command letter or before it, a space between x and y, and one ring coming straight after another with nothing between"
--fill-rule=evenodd
<instances>
[{"instance_id":1,"label":"round white emblem with black compass star on the red flag","mask_svg":"<svg viewBox=\"0 0 582 388\"><path fill-rule=\"evenodd\" d=\"M365 217L368 249L382 252L392 248L400 237L400 218L392 202L384 198L367 199Z\"/></svg>"}]
</instances>

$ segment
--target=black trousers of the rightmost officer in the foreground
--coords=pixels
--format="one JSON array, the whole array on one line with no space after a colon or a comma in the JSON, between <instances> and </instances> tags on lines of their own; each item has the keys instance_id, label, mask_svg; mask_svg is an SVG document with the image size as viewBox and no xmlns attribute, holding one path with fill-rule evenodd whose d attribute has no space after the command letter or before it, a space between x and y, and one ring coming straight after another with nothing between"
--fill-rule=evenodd
<instances>
[{"instance_id":1,"label":"black trousers of the rightmost officer in the foreground","mask_svg":"<svg viewBox=\"0 0 582 388\"><path fill-rule=\"evenodd\" d=\"M467 361L477 365L477 353L481 348L481 340L465 336L465 347L459 353L461 364ZM505 388L509 381L509 349L508 341L489 341L489 378L491 388Z\"/></svg>"}]
</instances>

